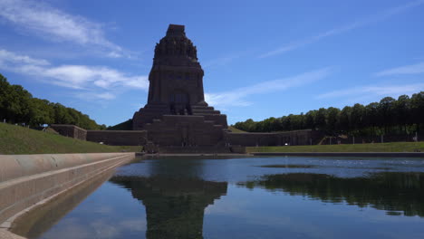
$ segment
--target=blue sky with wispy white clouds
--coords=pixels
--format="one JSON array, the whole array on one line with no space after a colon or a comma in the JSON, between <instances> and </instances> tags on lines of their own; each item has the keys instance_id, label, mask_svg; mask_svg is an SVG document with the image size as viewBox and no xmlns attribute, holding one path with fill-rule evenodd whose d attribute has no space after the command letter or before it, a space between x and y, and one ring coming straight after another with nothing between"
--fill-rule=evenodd
<instances>
[{"instance_id":1,"label":"blue sky with wispy white clouds","mask_svg":"<svg viewBox=\"0 0 424 239\"><path fill-rule=\"evenodd\" d=\"M146 104L169 24L230 124L424 91L424 0L0 0L0 73L115 125Z\"/></svg>"}]
</instances>

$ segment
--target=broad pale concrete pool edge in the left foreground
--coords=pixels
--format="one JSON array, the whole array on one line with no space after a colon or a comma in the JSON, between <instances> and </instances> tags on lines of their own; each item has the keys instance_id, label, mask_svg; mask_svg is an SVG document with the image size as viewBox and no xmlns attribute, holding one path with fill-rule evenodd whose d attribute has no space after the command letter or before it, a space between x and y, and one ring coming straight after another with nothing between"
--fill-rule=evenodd
<instances>
[{"instance_id":1,"label":"broad pale concrete pool edge in the left foreground","mask_svg":"<svg viewBox=\"0 0 424 239\"><path fill-rule=\"evenodd\" d=\"M135 153L0 155L0 238L22 238L6 231L18 216L133 158Z\"/></svg>"}]
</instances>

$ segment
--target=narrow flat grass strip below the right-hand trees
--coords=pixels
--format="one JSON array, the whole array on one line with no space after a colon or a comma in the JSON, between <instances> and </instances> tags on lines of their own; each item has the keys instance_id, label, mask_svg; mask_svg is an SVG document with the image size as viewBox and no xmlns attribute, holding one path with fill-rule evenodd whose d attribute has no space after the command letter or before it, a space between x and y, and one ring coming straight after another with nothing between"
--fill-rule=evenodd
<instances>
[{"instance_id":1,"label":"narrow flat grass strip below the right-hand trees","mask_svg":"<svg viewBox=\"0 0 424 239\"><path fill-rule=\"evenodd\" d=\"M247 147L248 153L253 152L424 152L424 142L373 143L355 145L308 145L308 146L273 146Z\"/></svg>"}]
</instances>

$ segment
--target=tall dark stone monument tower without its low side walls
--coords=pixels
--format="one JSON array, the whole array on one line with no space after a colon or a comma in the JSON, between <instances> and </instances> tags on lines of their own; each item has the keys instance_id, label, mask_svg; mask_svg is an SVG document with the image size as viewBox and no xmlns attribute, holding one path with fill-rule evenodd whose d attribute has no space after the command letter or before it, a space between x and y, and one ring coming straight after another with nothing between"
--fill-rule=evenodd
<instances>
[{"instance_id":1,"label":"tall dark stone monument tower without its low side walls","mask_svg":"<svg viewBox=\"0 0 424 239\"><path fill-rule=\"evenodd\" d=\"M223 143L226 115L207 105L204 72L198 51L184 25L169 24L155 47L149 73L149 97L134 113L134 130L148 130L148 138L165 146L213 146Z\"/></svg>"}]
</instances>

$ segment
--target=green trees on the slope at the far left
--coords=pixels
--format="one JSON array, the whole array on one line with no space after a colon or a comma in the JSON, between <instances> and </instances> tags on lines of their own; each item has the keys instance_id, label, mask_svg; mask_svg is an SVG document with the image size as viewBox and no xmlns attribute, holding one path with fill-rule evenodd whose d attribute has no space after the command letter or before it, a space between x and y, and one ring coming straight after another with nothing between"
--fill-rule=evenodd
<instances>
[{"instance_id":1,"label":"green trees on the slope at the far left","mask_svg":"<svg viewBox=\"0 0 424 239\"><path fill-rule=\"evenodd\" d=\"M51 124L72 124L83 129L106 129L82 112L60 103L34 98L21 85L10 84L0 74L0 120L32 128Z\"/></svg>"}]
</instances>

